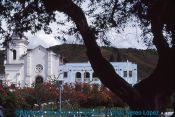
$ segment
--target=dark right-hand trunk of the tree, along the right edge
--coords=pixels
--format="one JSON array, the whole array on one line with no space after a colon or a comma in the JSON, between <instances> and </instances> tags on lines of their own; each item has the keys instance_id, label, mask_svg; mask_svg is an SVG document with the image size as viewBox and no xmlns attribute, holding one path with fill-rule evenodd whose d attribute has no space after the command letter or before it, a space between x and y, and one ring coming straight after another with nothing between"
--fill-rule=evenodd
<instances>
[{"instance_id":1,"label":"dark right-hand trunk of the tree, along the right edge","mask_svg":"<svg viewBox=\"0 0 175 117\"><path fill-rule=\"evenodd\" d=\"M158 4L151 11L151 29L154 36L153 43L159 55L158 64L151 76L136 84L135 89L146 98L144 100L150 101L150 108L164 111L168 105L167 100L174 92L175 51L174 45L170 48L163 36L164 21L161 17L162 12L159 11L160 7Z\"/></svg>"}]
</instances>

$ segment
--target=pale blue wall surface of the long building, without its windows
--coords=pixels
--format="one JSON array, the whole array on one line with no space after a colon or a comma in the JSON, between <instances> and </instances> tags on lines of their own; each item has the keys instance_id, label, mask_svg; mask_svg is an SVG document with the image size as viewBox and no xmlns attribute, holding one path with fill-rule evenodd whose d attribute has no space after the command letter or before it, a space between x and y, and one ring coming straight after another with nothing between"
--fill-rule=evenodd
<instances>
[{"instance_id":1,"label":"pale blue wall surface of the long building, without its windows","mask_svg":"<svg viewBox=\"0 0 175 117\"><path fill-rule=\"evenodd\" d=\"M129 84L134 85L137 83L137 65L131 62L111 62L117 74L119 74ZM123 72L127 71L127 77L123 77ZM129 77L129 71L132 71L132 77ZM68 77L64 78L64 72L68 73ZM59 79L63 80L64 83L75 83L75 74L80 72L82 75L81 82L84 81L84 73L90 73L90 83L101 84L100 80L92 81L93 70L90 63L67 63L59 67Z\"/></svg>"}]
</instances>

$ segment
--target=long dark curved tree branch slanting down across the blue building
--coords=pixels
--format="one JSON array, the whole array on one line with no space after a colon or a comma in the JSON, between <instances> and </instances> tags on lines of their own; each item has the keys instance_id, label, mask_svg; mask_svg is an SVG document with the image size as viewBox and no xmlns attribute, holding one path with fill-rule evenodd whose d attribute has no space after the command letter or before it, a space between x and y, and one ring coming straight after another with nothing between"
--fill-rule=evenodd
<instances>
[{"instance_id":1,"label":"long dark curved tree branch slanting down across the blue building","mask_svg":"<svg viewBox=\"0 0 175 117\"><path fill-rule=\"evenodd\" d=\"M87 56L91 66L102 83L119 95L129 105L136 104L140 99L139 93L117 75L112 65L103 58L82 9L71 0L57 0L55 8L52 5L48 6L49 3L46 4L46 2L48 2L48 0L45 0L48 11L58 10L64 12L75 22L87 47Z\"/></svg>"}]
</instances>

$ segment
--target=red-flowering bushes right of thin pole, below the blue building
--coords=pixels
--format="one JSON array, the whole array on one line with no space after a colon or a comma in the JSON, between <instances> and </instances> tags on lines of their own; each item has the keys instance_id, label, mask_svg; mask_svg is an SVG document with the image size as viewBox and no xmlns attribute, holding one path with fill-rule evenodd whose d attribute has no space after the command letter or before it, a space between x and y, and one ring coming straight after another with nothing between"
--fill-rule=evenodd
<instances>
[{"instance_id":1,"label":"red-flowering bushes right of thin pole, below the blue building","mask_svg":"<svg viewBox=\"0 0 175 117\"><path fill-rule=\"evenodd\" d=\"M65 85L63 97L72 105L84 108L94 108L99 106L124 106L119 97L114 95L110 90L97 84L75 84L75 86ZM74 106L75 107L75 106Z\"/></svg>"}]
</instances>

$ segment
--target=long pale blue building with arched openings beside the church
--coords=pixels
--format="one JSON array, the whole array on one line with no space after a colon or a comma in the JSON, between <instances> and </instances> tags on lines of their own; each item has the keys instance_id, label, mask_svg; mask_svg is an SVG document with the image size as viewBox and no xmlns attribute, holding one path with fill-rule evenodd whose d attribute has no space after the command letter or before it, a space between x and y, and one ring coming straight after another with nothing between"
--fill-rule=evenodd
<instances>
[{"instance_id":1,"label":"long pale blue building with arched openings beside the church","mask_svg":"<svg viewBox=\"0 0 175 117\"><path fill-rule=\"evenodd\" d=\"M131 62L111 62L116 72L129 84L137 83L137 65ZM64 83L85 82L101 84L90 63L67 63L59 66L59 79Z\"/></svg>"}]
</instances>

